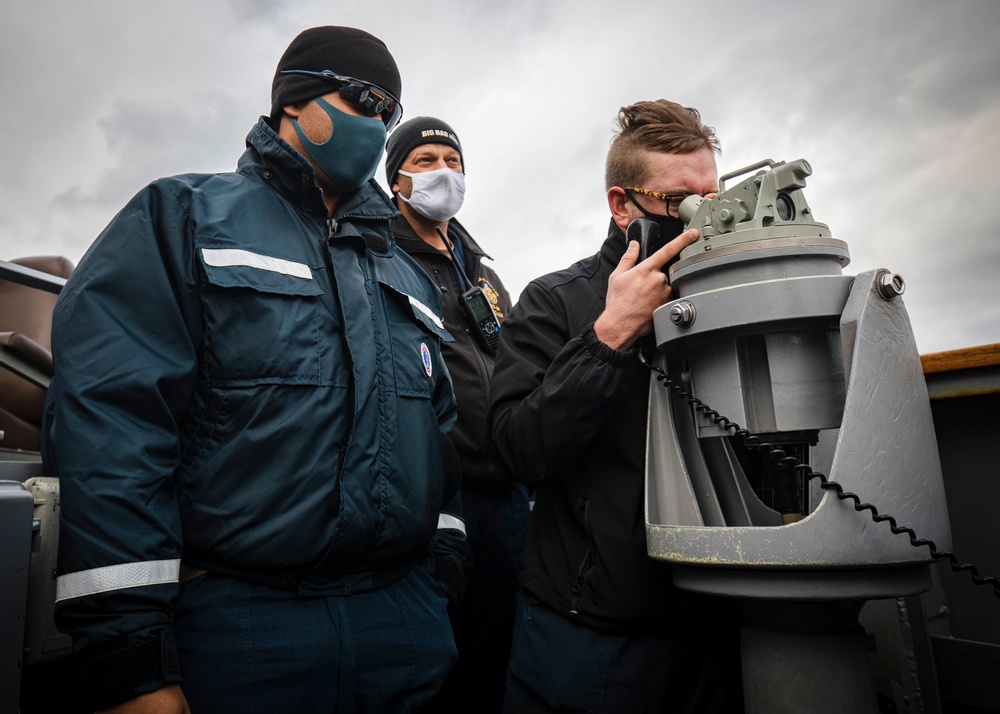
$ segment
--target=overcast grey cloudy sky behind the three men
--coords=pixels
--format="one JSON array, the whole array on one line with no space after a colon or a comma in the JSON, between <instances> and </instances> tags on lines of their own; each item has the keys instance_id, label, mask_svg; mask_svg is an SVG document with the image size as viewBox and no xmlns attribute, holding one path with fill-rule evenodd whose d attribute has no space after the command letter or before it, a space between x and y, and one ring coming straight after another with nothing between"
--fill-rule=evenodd
<instances>
[{"instance_id":1,"label":"overcast grey cloudy sky behind the three men","mask_svg":"<svg viewBox=\"0 0 1000 714\"><path fill-rule=\"evenodd\" d=\"M922 353L1000 342L1000 0L6 0L0 258L79 261L149 181L232 170L322 24L382 38L404 119L456 129L459 218L515 297L598 249L614 118L663 97L716 128L720 173L807 159L847 272L905 278Z\"/></svg>"}]
</instances>

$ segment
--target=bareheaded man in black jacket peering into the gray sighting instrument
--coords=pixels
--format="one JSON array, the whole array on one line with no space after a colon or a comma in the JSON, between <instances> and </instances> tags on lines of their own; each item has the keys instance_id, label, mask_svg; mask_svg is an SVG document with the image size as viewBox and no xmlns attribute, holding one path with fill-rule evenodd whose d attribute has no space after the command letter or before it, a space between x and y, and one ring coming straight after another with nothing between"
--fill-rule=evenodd
<instances>
[{"instance_id":1,"label":"bareheaded man in black jacket peering into the gray sighting instrument","mask_svg":"<svg viewBox=\"0 0 1000 714\"><path fill-rule=\"evenodd\" d=\"M650 372L638 359L653 310L670 299L661 269L697 237L681 233L678 207L717 190L719 144L696 110L666 100L618 120L608 238L528 285L493 376L497 450L536 489L507 677L505 711L518 714L729 711L698 603L646 553ZM640 216L669 241L641 262L625 239Z\"/></svg>"}]
</instances>

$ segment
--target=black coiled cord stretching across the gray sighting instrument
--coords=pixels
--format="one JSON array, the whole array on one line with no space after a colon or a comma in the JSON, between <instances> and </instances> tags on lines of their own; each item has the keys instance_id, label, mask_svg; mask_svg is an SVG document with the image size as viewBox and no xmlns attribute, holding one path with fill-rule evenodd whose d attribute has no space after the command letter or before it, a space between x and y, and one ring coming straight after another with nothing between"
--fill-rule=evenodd
<instances>
[{"instance_id":1,"label":"black coiled cord stretching across the gray sighting instrument","mask_svg":"<svg viewBox=\"0 0 1000 714\"><path fill-rule=\"evenodd\" d=\"M650 371L655 373L657 382L661 382L664 388L672 390L674 394L684 399L687 404L693 406L697 411L711 419L712 423L716 426L720 426L726 431L732 431L733 436L738 436L743 440L743 445L745 447L760 452L767 452L767 458L773 459L781 466L794 469L799 475L804 476L807 479L819 479L820 488L823 490L833 491L837 495L837 498L842 501L852 501L855 511L869 511L871 513L872 520L876 523L882 523L883 521L888 522L890 530L895 535L905 533L910 539L910 545L914 548L919 548L922 545L927 546L932 558L935 560L948 560L951 565L951 569L956 573L963 570L969 571L969 574L972 576L973 583L976 585L991 585L993 587L993 594L1000 598L1000 580L991 576L981 577L979 575L979 569L972 563L959 563L958 558L955 557L954 553L947 550L938 550L934 541L927 538L917 538L917 534L912 528L898 525L895 518L880 514L878 512L878 508L871 503L863 503L861 498L856 493L845 491L844 487L839 483L831 481L818 471L813 471L808 464L803 464L794 456L788 455L781 447L763 441L759 436L751 434L736 422L723 416L722 414L719 414L719 412L709 407L703 401L698 399L698 397L694 396L684 389L684 387L670 379L666 372L649 362L642 352L639 352L638 354L639 361L646 365Z\"/></svg>"}]
</instances>

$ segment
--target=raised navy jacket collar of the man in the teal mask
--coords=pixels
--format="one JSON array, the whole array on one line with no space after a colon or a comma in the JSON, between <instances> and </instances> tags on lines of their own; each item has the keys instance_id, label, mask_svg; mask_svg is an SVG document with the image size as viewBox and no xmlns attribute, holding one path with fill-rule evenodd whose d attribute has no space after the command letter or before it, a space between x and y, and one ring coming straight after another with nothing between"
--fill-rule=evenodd
<instances>
[{"instance_id":1,"label":"raised navy jacket collar of the man in the teal mask","mask_svg":"<svg viewBox=\"0 0 1000 714\"><path fill-rule=\"evenodd\" d=\"M240 157L237 171L271 186L282 198L306 213L326 218L326 203L323 192L316 185L312 164L278 136L267 117L261 117L247 135L247 149ZM334 219L337 222L345 219L385 221L398 215L389 197L375 179L371 179L356 191L340 197Z\"/></svg>"}]
</instances>

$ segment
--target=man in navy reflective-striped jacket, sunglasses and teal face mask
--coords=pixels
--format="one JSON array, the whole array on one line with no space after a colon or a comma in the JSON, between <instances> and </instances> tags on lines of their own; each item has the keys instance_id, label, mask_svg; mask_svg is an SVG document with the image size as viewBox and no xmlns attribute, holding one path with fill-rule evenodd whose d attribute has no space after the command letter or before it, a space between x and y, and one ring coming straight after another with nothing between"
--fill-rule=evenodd
<instances>
[{"instance_id":1,"label":"man in navy reflective-striped jacket, sunglasses and teal face mask","mask_svg":"<svg viewBox=\"0 0 1000 714\"><path fill-rule=\"evenodd\" d=\"M380 40L303 32L237 171L147 186L60 297L57 617L98 709L409 710L454 664L451 337L372 180L399 96Z\"/></svg>"}]
</instances>

